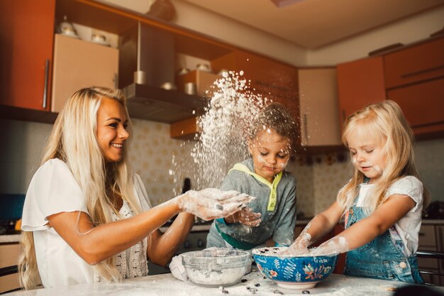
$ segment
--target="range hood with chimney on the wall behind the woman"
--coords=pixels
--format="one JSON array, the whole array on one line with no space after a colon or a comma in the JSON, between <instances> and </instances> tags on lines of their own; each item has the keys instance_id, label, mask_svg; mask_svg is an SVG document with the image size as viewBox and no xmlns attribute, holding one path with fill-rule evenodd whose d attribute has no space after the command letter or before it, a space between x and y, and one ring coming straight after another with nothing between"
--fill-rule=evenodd
<instances>
[{"instance_id":1,"label":"range hood with chimney on the wall behind the woman","mask_svg":"<svg viewBox=\"0 0 444 296\"><path fill-rule=\"evenodd\" d=\"M126 94L131 118L174 123L202 114L206 99L174 84L174 35L138 23L119 38L119 87Z\"/></svg>"}]
</instances>

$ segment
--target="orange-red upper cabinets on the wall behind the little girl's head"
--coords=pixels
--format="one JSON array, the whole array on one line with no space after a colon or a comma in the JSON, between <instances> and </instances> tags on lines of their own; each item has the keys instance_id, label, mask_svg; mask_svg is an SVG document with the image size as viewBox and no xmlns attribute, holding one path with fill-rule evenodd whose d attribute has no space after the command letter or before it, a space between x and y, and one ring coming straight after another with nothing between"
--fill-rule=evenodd
<instances>
[{"instance_id":1,"label":"orange-red upper cabinets on the wall behind the little girl's head","mask_svg":"<svg viewBox=\"0 0 444 296\"><path fill-rule=\"evenodd\" d=\"M337 66L340 121L363 106L397 102L416 138L444 134L444 38L421 40Z\"/></svg>"}]
</instances>

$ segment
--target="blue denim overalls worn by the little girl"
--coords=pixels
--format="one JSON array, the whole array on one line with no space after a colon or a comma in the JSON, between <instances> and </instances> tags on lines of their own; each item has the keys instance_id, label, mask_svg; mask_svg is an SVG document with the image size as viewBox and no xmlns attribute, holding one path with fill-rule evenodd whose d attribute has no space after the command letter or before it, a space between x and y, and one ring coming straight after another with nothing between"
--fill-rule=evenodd
<instances>
[{"instance_id":1,"label":"blue denim overalls worn by the little girl","mask_svg":"<svg viewBox=\"0 0 444 296\"><path fill-rule=\"evenodd\" d=\"M356 207L358 198L345 216L345 228L367 217L365 208ZM370 243L348 251L344 274L405 283L424 283L418 271L416 256L405 256L403 251L404 243L392 226Z\"/></svg>"}]
</instances>

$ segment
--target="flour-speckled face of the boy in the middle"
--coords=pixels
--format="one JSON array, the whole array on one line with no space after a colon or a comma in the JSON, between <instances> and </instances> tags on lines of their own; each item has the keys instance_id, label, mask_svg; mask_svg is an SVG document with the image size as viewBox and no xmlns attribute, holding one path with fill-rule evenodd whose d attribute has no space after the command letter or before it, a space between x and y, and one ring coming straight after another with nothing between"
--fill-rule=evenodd
<instances>
[{"instance_id":1,"label":"flour-speckled face of the boy in the middle","mask_svg":"<svg viewBox=\"0 0 444 296\"><path fill-rule=\"evenodd\" d=\"M270 129L257 133L257 137L250 141L248 150L252 155L255 173L273 182L274 176L287 166L290 141Z\"/></svg>"}]
</instances>

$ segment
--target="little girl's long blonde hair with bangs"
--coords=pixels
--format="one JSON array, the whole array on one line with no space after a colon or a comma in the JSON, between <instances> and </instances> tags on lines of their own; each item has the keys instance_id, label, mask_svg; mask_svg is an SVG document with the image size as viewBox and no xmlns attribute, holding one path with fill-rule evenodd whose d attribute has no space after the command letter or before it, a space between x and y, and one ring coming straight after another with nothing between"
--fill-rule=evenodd
<instances>
[{"instance_id":1,"label":"little girl's long blonde hair with bangs","mask_svg":"<svg viewBox=\"0 0 444 296\"><path fill-rule=\"evenodd\" d=\"M401 177L412 175L418 177L414 164L414 133L411 130L401 108L391 100L370 104L356 111L345 120L343 143L348 147L347 139L357 131L383 143L385 155L384 170L374 183L370 198L365 199L367 214L371 214L387 200L386 190ZM353 155L350 152L350 158ZM364 174L355 168L352 179L338 193L338 203L343 209L349 209L357 196L357 188L364 180ZM430 202L430 194L424 187L424 207Z\"/></svg>"}]
</instances>

